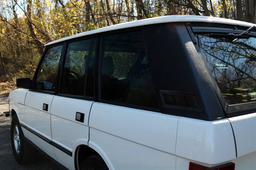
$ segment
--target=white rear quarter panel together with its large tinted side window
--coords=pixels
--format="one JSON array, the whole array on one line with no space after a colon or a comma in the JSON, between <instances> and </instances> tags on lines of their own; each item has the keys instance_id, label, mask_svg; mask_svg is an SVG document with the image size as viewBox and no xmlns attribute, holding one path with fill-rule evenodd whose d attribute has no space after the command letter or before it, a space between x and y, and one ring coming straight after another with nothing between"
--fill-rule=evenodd
<instances>
[{"instance_id":1,"label":"white rear quarter panel together with its large tinted side window","mask_svg":"<svg viewBox=\"0 0 256 170\"><path fill-rule=\"evenodd\" d=\"M159 113L142 33L107 33L102 41L89 146L109 169L175 169L179 117Z\"/></svg>"}]
</instances>

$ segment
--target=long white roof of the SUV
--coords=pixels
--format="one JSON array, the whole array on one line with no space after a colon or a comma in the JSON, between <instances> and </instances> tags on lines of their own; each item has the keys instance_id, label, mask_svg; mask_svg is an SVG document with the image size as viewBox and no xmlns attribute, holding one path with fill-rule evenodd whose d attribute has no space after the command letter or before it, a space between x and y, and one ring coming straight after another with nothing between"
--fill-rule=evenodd
<instances>
[{"instance_id":1,"label":"long white roof of the SUV","mask_svg":"<svg viewBox=\"0 0 256 170\"><path fill-rule=\"evenodd\" d=\"M86 35L96 34L100 32L107 32L112 30L118 30L123 28L130 28L135 26L142 26L142 25L151 25L151 24L160 24L160 23L168 23L168 22L211 22L211 23L219 23L219 24L230 24L230 25L240 25L251 27L252 23L247 23L243 21L237 21L232 19L225 19L225 18L217 18L217 17L206 17L206 16L196 16L196 15L170 15L170 16L163 16L163 17L155 17L155 18L147 18L141 19L116 25L111 25L99 29L95 29L92 31L82 32L76 35L68 36L62 39L58 39L52 42L45 44L44 46L49 46L55 43L59 43L62 41L66 41L69 39L74 39Z\"/></svg>"}]
</instances>

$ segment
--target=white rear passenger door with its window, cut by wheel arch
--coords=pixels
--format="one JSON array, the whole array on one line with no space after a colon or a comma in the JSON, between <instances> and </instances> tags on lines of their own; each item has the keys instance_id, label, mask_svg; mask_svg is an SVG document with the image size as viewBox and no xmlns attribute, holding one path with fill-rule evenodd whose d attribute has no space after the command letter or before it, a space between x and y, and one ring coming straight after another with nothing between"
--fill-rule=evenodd
<instances>
[{"instance_id":1,"label":"white rear passenger door with its window, cut by wheel arch","mask_svg":"<svg viewBox=\"0 0 256 170\"><path fill-rule=\"evenodd\" d=\"M93 103L95 37L67 43L60 93L51 107L52 145L58 161L74 169L76 147L88 145Z\"/></svg>"}]
</instances>

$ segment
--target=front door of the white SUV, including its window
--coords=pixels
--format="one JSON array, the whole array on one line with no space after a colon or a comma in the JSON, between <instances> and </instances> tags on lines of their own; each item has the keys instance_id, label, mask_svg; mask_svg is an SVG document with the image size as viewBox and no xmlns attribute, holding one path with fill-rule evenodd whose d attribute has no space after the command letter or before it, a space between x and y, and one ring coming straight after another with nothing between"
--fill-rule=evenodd
<instances>
[{"instance_id":1,"label":"front door of the white SUV, including its window","mask_svg":"<svg viewBox=\"0 0 256 170\"><path fill-rule=\"evenodd\" d=\"M34 89L25 99L27 138L56 160L51 145L50 108L57 87L57 74L63 45L46 49L34 77Z\"/></svg>"}]
</instances>

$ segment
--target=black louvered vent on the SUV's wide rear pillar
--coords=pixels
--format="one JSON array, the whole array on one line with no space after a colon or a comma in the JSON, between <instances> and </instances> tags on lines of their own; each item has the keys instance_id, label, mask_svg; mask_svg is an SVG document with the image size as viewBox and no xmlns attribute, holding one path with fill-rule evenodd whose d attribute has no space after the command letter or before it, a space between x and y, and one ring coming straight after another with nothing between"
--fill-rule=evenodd
<instances>
[{"instance_id":1,"label":"black louvered vent on the SUV's wide rear pillar","mask_svg":"<svg viewBox=\"0 0 256 170\"><path fill-rule=\"evenodd\" d=\"M186 107L202 110L196 93L160 90L164 107Z\"/></svg>"}]
</instances>

